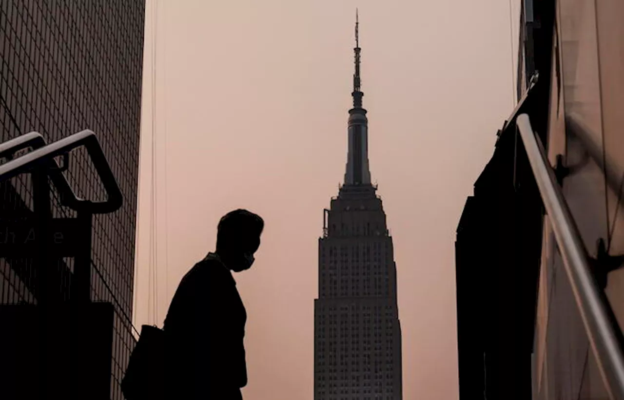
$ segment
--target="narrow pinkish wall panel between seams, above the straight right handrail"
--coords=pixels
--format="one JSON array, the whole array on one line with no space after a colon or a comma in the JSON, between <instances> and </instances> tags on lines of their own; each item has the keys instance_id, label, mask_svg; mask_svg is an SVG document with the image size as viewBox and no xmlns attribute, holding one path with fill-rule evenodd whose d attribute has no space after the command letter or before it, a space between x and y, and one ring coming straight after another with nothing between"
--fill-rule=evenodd
<instances>
[{"instance_id":1,"label":"narrow pinkish wall panel between seams, above the straight right handrail","mask_svg":"<svg viewBox=\"0 0 624 400\"><path fill-rule=\"evenodd\" d=\"M602 167L587 157L587 149L602 154L600 79L594 2L559 2L558 32L562 44L565 114L587 130L584 142L568 135L565 162L574 173L564 181L563 192L590 255L598 238L607 237L605 181Z\"/></svg>"}]
</instances>

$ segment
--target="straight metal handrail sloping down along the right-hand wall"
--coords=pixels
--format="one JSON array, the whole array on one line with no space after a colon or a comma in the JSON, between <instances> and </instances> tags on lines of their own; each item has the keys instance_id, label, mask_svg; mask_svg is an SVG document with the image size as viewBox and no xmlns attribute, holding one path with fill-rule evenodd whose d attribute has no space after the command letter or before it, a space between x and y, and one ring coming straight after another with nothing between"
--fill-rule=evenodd
<instances>
[{"instance_id":1,"label":"straight metal handrail sloping down along the right-hand wall","mask_svg":"<svg viewBox=\"0 0 624 400\"><path fill-rule=\"evenodd\" d=\"M624 400L624 358L607 307L590 272L589 257L574 223L541 140L535 135L529 116L516 120L524 147L550 218L563 265L592 346L595 359L611 399Z\"/></svg>"}]
</instances>

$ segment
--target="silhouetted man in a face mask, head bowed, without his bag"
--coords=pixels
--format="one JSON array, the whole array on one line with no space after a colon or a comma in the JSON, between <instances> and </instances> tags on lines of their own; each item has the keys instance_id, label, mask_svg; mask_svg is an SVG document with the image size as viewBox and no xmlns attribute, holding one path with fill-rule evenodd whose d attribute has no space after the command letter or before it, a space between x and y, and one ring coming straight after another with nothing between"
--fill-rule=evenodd
<instances>
[{"instance_id":1,"label":"silhouetted man in a face mask, head bowed, without his bag","mask_svg":"<svg viewBox=\"0 0 624 400\"><path fill-rule=\"evenodd\" d=\"M163 327L167 338L168 398L242 399L247 384L246 312L231 271L247 270L264 222L246 210L221 218L217 250L182 278Z\"/></svg>"}]
</instances>

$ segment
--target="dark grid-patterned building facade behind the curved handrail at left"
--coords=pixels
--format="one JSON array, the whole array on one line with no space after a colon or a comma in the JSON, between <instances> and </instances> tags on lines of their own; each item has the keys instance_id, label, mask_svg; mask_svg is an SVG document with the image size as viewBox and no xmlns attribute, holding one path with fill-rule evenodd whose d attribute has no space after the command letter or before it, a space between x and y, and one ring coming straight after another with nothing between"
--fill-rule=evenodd
<instances>
[{"instance_id":1,"label":"dark grid-patterned building facade behind the curved handrail at left","mask_svg":"<svg viewBox=\"0 0 624 400\"><path fill-rule=\"evenodd\" d=\"M115 307L112 399L123 398L119 383L135 343L131 316L144 14L142 0L0 4L0 142L36 131L50 143L90 129L124 196L117 212L94 215L92 229L91 300ZM65 175L79 197L105 200L83 149L71 153ZM32 212L31 183L26 175L2 183L3 215ZM75 217L52 194L53 216ZM0 303L37 303L31 261L0 260ZM57 300L67 300L72 259L50 264Z\"/></svg>"}]
</instances>

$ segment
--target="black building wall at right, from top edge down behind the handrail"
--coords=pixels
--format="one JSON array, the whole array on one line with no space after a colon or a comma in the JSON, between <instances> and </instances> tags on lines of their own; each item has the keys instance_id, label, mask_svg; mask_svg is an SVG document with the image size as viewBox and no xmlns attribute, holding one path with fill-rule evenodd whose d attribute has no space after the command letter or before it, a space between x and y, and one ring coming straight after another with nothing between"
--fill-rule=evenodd
<instances>
[{"instance_id":1,"label":"black building wall at right, from top edge down behind the handrail","mask_svg":"<svg viewBox=\"0 0 624 400\"><path fill-rule=\"evenodd\" d=\"M523 5L520 20L519 104L498 132L492 159L457 227L460 399L532 396L544 213L515 117L529 114L545 142L554 2L531 3ZM534 72L537 81L529 76Z\"/></svg>"}]
</instances>

